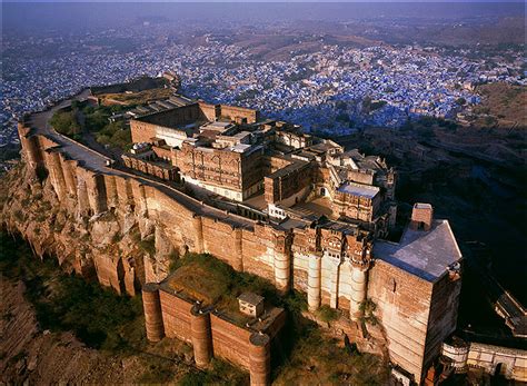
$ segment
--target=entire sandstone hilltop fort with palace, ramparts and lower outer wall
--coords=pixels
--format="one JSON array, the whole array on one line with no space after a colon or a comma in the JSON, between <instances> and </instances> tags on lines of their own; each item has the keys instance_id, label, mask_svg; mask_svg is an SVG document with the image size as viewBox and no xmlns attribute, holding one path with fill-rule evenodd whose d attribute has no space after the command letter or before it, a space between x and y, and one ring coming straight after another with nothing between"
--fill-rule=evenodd
<instances>
[{"instance_id":1,"label":"entire sandstone hilltop fort with palace, ramparts and lower outer wall","mask_svg":"<svg viewBox=\"0 0 527 386\"><path fill-rule=\"evenodd\" d=\"M387 240L397 174L384 159L252 109L188 100L132 119L135 146L119 165L49 128L51 113L19 123L19 184L60 210L37 232L11 202L3 222L37 254L56 254L118 291L143 286L149 338L182 338L198 365L219 355L248 368L252 383L269 383L282 310L247 327L171 289L168 257L208 253L282 293L306 294L311 311L342 310L359 329L375 304L390 362L425 379L456 328L461 254L428 204L416 204L400 239ZM93 247L79 248L84 239ZM255 316L261 299L248 294L240 307Z\"/></svg>"}]
</instances>

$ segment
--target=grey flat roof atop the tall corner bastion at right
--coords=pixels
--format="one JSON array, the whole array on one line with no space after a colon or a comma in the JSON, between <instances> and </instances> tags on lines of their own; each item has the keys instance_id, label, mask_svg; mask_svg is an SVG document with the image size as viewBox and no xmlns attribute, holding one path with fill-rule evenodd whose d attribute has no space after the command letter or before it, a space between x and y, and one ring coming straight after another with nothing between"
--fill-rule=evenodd
<instances>
[{"instance_id":1,"label":"grey flat roof atop the tall corner bastion at right","mask_svg":"<svg viewBox=\"0 0 527 386\"><path fill-rule=\"evenodd\" d=\"M463 256L448 220L434 220L428 231L407 228L399 243L375 241L374 257L434 283Z\"/></svg>"}]
</instances>

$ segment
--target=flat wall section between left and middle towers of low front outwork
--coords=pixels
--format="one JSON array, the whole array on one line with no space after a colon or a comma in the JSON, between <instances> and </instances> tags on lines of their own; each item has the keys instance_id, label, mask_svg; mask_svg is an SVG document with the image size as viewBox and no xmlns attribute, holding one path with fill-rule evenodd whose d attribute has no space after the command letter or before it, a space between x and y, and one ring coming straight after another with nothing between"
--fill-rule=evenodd
<instances>
[{"instance_id":1,"label":"flat wall section between left and middle towers of low front outwork","mask_svg":"<svg viewBox=\"0 0 527 386\"><path fill-rule=\"evenodd\" d=\"M165 335L191 344L190 309L192 304L165 290L159 291L159 298Z\"/></svg>"}]
</instances>

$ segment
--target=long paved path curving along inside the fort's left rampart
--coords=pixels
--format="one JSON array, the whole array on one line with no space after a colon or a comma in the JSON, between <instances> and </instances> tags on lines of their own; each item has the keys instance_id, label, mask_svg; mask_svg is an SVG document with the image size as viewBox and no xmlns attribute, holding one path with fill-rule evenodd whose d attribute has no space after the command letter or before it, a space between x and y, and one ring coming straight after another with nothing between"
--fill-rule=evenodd
<instances>
[{"instance_id":1,"label":"long paved path curving along inside the fort's left rampart","mask_svg":"<svg viewBox=\"0 0 527 386\"><path fill-rule=\"evenodd\" d=\"M71 100L84 100L89 95L88 90L82 91L81 93L73 97ZM217 218L223 222L228 222L236 227L243 227L243 228L253 228L253 221L238 216L233 214L227 214L223 210L213 208L208 205L202 205L200 201L193 199L192 197L177 190L176 188L156 180L155 178L150 178L147 176L138 176L131 171L126 171L122 169L110 168L107 166L107 162L111 160L109 157L97 152L93 149L90 149L61 133L57 132L50 125L49 120L53 116L53 113L64 107L71 106L71 100L64 100L52 109L37 112L31 115L28 125L34 130L34 133L43 135L57 143L60 145L61 150L66 152L71 159L78 160L82 164L83 167L90 169L96 172L111 175L111 176L121 176L125 178L133 178L140 181L143 185L152 186L167 196L173 198L177 202L185 206L189 210L206 217Z\"/></svg>"}]
</instances>

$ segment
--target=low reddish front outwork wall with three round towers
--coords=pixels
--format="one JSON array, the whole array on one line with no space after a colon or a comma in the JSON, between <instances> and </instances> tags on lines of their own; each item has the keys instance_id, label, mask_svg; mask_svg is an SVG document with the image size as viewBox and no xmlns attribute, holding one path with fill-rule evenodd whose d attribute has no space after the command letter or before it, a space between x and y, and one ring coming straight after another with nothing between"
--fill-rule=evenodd
<instances>
[{"instance_id":1,"label":"low reddish front outwork wall with three round towers","mask_svg":"<svg viewBox=\"0 0 527 386\"><path fill-rule=\"evenodd\" d=\"M255 331L162 285L148 283L142 294L149 340L181 339L192 345L198 367L218 356L249 370L251 385L270 384L271 340L285 324L284 310L265 331Z\"/></svg>"}]
</instances>

